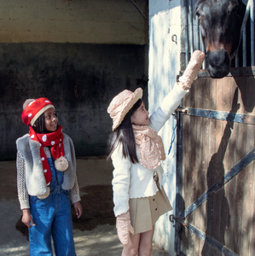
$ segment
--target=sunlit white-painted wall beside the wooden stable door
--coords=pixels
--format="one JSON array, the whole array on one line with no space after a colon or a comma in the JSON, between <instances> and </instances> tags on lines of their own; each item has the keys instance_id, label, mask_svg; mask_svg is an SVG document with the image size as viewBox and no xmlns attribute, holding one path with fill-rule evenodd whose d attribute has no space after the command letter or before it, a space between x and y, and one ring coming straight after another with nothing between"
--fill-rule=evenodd
<instances>
[{"instance_id":1,"label":"sunlit white-painted wall beside the wooden stable door","mask_svg":"<svg viewBox=\"0 0 255 256\"><path fill-rule=\"evenodd\" d=\"M149 71L148 106L153 113L171 90L180 70L181 44L180 0L149 0ZM177 36L177 44L172 36ZM173 116L166 122L159 135L165 145L166 160L163 163L164 188L171 205L175 207L176 195L176 121ZM155 226L154 242L164 247L170 255L174 252L175 230L166 213Z\"/></svg>"}]
</instances>

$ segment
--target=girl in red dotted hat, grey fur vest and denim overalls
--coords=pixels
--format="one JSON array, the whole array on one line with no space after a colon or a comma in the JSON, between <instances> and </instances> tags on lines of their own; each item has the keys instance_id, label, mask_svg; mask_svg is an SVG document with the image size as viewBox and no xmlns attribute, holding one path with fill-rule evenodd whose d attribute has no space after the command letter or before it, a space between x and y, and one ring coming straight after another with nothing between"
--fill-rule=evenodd
<instances>
[{"instance_id":1,"label":"girl in red dotted hat, grey fur vest and denim overalls","mask_svg":"<svg viewBox=\"0 0 255 256\"><path fill-rule=\"evenodd\" d=\"M29 228L30 255L76 255L69 196L82 214L72 139L62 133L47 98L26 100L22 121L29 133L17 139L17 183L22 222Z\"/></svg>"}]
</instances>

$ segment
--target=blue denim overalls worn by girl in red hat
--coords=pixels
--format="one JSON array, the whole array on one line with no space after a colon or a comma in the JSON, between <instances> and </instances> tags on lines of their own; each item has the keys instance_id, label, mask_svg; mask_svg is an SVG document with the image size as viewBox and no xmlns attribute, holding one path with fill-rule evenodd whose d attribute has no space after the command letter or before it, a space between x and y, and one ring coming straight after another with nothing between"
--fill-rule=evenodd
<instances>
[{"instance_id":1,"label":"blue denim overalls worn by girl in red hat","mask_svg":"<svg viewBox=\"0 0 255 256\"><path fill-rule=\"evenodd\" d=\"M76 256L72 236L69 191L61 189L63 172L55 170L54 160L47 158L51 172L50 194L45 199L30 195L30 213L35 226L29 228L30 255L52 256L51 236L56 256Z\"/></svg>"}]
</instances>

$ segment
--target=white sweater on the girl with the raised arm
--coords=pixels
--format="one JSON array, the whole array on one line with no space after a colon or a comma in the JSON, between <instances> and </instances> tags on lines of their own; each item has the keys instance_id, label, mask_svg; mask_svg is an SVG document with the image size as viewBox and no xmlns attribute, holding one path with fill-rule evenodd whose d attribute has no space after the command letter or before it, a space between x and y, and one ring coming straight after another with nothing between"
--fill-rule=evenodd
<instances>
[{"instance_id":1,"label":"white sweater on the girl with the raised arm","mask_svg":"<svg viewBox=\"0 0 255 256\"><path fill-rule=\"evenodd\" d=\"M183 90L177 84L173 90L165 96L161 106L150 117L149 126L155 131L159 131L170 118L171 113L178 107L183 96L188 90ZM141 165L139 155L139 145L136 145L136 154L139 163L133 164L129 158L124 158L122 147L116 148L112 154L113 160L113 202L114 214L118 216L129 210L130 198L141 198L153 196L159 190L154 183L154 171L158 172L159 184L162 186L162 166L154 170Z\"/></svg>"}]
</instances>

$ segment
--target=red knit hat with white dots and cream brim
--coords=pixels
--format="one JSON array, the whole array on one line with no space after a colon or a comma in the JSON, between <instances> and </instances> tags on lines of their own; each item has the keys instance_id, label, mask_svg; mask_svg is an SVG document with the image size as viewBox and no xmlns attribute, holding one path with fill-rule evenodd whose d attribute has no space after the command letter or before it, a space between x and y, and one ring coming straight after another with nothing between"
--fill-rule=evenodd
<instances>
[{"instance_id":1,"label":"red knit hat with white dots and cream brim","mask_svg":"<svg viewBox=\"0 0 255 256\"><path fill-rule=\"evenodd\" d=\"M38 117L48 108L54 108L47 98L29 99L23 104L22 121L25 125L33 125Z\"/></svg>"}]
</instances>

